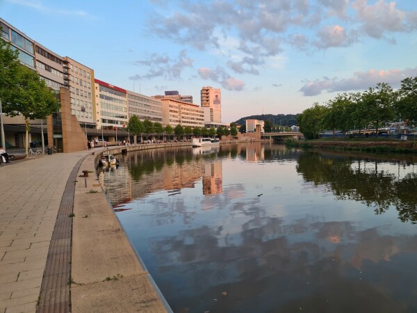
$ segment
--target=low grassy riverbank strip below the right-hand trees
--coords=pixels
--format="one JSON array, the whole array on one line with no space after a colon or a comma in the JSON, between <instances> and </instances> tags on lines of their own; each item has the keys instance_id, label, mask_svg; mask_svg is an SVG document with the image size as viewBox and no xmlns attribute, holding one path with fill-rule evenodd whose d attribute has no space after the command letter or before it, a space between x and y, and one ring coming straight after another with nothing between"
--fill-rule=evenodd
<instances>
[{"instance_id":1,"label":"low grassy riverbank strip below the right-hand trees","mask_svg":"<svg viewBox=\"0 0 417 313\"><path fill-rule=\"evenodd\" d=\"M346 138L315 139L310 141L286 141L290 147L306 147L328 150L379 152L379 153L417 153L417 141L395 141L386 138Z\"/></svg>"}]
</instances>

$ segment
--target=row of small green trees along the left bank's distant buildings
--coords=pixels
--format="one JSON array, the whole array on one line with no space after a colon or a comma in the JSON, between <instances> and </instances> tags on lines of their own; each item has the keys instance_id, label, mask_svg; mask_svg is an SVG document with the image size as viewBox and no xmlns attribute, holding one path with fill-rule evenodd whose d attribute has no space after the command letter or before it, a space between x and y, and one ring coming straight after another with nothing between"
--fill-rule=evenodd
<instances>
[{"instance_id":1,"label":"row of small green trees along the left bank's distant buildings","mask_svg":"<svg viewBox=\"0 0 417 313\"><path fill-rule=\"evenodd\" d=\"M236 127L231 127L231 129L218 127L215 129L211 127L207 129L206 127L194 127L191 128L190 126L183 127L182 125L177 125L176 127L172 128L171 125L167 125L163 127L160 122L151 122L150 120L144 120L143 122L139 120L138 116L132 115L129 118L129 122L127 124L127 129L131 134L134 136L134 143L138 142L137 136L140 136L140 142L143 141L143 137L145 136L146 139L149 139L149 136L156 136L157 139L162 139L165 141L165 136L177 136L177 138L183 138L190 136L237 136L238 130Z\"/></svg>"}]
</instances>

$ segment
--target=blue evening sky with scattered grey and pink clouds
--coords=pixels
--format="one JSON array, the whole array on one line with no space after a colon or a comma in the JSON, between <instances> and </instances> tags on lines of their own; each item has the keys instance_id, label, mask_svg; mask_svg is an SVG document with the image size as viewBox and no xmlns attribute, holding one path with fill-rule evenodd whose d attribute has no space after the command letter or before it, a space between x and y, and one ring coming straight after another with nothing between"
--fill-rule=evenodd
<instances>
[{"instance_id":1,"label":"blue evening sky with scattered grey and pink clouds","mask_svg":"<svg viewBox=\"0 0 417 313\"><path fill-rule=\"evenodd\" d=\"M417 76L416 0L0 0L0 17L143 95L222 90L222 122Z\"/></svg>"}]
</instances>

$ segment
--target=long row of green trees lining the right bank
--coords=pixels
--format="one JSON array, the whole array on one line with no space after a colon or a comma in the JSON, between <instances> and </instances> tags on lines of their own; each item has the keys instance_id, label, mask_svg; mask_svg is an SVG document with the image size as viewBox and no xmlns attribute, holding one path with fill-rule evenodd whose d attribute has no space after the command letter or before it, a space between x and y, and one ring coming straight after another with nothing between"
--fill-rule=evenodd
<instances>
[{"instance_id":1,"label":"long row of green trees lining the right bank","mask_svg":"<svg viewBox=\"0 0 417 313\"><path fill-rule=\"evenodd\" d=\"M401 81L393 90L388 83L378 83L362 93L343 93L325 105L313 104L297 115L300 131L307 139L318 138L323 130L379 129L393 121L404 121L409 127L417 123L417 77Z\"/></svg>"}]
</instances>

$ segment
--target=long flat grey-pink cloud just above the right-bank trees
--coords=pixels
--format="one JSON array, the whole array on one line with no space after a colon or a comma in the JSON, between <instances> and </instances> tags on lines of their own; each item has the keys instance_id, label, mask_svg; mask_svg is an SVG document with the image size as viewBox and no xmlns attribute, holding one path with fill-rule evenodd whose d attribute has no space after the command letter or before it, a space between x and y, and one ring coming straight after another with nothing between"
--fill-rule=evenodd
<instances>
[{"instance_id":1,"label":"long flat grey-pink cloud just above the right-bank trees","mask_svg":"<svg viewBox=\"0 0 417 313\"><path fill-rule=\"evenodd\" d=\"M350 90L366 90L374 87L377 83L389 83L392 87L400 87L402 79L414 77L417 74L417 67L407 67L404 70L369 70L368 72L354 72L353 77L348 79L316 79L315 81L304 81L300 91L304 96L320 95L322 91L338 92Z\"/></svg>"}]
</instances>

